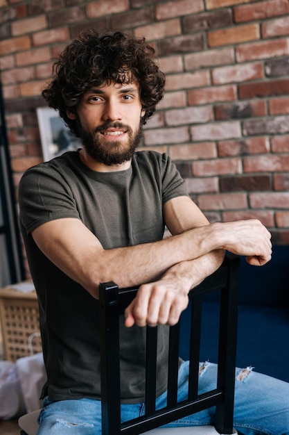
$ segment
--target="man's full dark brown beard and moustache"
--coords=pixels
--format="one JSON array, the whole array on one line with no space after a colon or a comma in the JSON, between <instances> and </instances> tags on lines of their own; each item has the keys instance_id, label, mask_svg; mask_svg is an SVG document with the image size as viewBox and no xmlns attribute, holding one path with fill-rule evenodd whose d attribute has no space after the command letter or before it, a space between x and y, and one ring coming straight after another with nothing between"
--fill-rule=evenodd
<instances>
[{"instance_id":1,"label":"man's full dark brown beard and moustache","mask_svg":"<svg viewBox=\"0 0 289 435\"><path fill-rule=\"evenodd\" d=\"M100 132L112 128L125 129L128 140L110 140L109 142L102 140ZM143 133L141 122L139 123L139 129L135 132L132 131L130 126L121 124L121 122L105 122L103 125L96 127L92 134L79 125L79 131L82 145L85 147L87 154L98 163L107 166L120 165L130 161Z\"/></svg>"}]
</instances>

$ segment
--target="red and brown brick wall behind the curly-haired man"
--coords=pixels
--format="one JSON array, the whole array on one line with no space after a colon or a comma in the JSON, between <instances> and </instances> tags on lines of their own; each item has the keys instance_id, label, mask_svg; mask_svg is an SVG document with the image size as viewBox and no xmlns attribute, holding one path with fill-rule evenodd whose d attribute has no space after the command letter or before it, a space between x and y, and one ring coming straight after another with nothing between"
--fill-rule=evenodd
<instances>
[{"instance_id":1,"label":"red and brown brick wall behind the curly-haired man","mask_svg":"<svg viewBox=\"0 0 289 435\"><path fill-rule=\"evenodd\" d=\"M289 243L288 0L0 0L1 81L15 187L42 161L35 108L80 29L146 36L166 96L143 146L167 151L211 222L258 217Z\"/></svg>"}]
</instances>

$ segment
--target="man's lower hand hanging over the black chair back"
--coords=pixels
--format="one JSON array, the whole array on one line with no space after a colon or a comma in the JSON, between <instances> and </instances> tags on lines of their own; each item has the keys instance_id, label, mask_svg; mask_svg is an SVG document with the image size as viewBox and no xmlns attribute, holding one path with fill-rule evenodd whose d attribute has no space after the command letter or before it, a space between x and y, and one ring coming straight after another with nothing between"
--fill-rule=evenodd
<instances>
[{"instance_id":1,"label":"man's lower hand hanging over the black chair back","mask_svg":"<svg viewBox=\"0 0 289 435\"><path fill-rule=\"evenodd\" d=\"M175 325L188 303L188 293L168 279L143 284L125 309L125 326Z\"/></svg>"}]
</instances>

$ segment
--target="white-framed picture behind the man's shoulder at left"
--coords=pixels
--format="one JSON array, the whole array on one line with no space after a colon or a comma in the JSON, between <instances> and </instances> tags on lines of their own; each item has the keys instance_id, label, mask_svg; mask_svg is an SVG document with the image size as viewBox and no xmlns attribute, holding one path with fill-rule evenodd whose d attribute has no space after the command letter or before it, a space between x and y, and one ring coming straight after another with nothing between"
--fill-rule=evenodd
<instances>
[{"instance_id":1,"label":"white-framed picture behind the man's shoulder at left","mask_svg":"<svg viewBox=\"0 0 289 435\"><path fill-rule=\"evenodd\" d=\"M57 110L49 107L38 107L37 120L44 161L60 156L66 151L75 151L82 147L80 139L71 133Z\"/></svg>"}]
</instances>

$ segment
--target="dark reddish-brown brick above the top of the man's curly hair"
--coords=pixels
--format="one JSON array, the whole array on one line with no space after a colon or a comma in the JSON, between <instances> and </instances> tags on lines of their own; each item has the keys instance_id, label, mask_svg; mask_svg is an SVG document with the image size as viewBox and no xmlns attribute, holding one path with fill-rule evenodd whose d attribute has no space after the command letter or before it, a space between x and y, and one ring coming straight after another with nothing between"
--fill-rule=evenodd
<instances>
[{"instance_id":1,"label":"dark reddish-brown brick above the top of the man's curly hair","mask_svg":"<svg viewBox=\"0 0 289 435\"><path fill-rule=\"evenodd\" d=\"M143 26L154 21L152 8L142 8L139 10L128 10L128 12L112 15L112 28L118 30L132 26Z\"/></svg>"}]
</instances>

